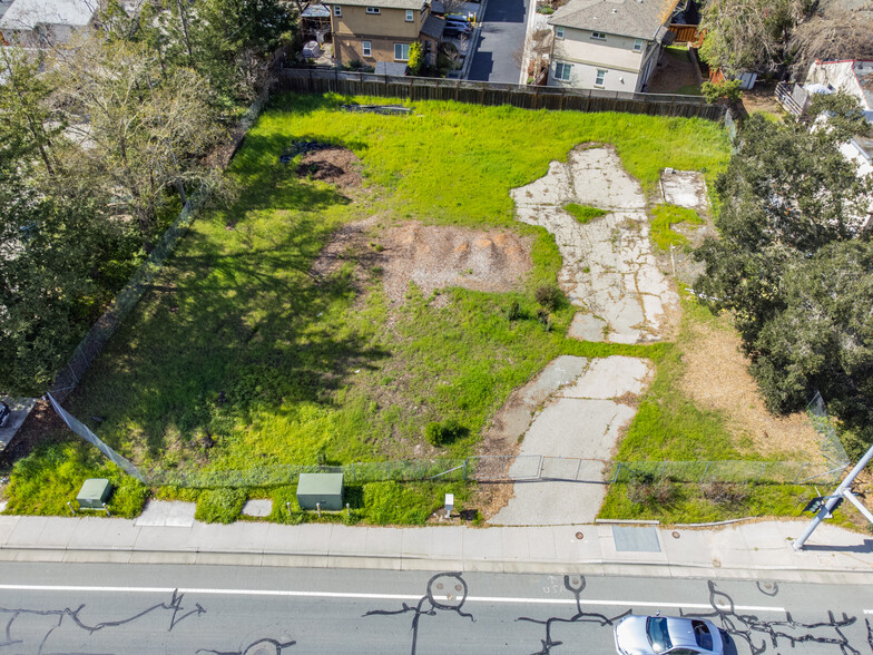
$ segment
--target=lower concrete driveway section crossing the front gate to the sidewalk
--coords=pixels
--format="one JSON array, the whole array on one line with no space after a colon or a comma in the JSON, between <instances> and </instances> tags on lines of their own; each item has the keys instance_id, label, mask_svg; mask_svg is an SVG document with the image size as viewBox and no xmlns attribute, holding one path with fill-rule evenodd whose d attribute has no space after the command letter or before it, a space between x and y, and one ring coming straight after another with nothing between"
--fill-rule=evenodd
<instances>
[{"instance_id":1,"label":"lower concrete driveway section crossing the front gate to the sidewalk","mask_svg":"<svg viewBox=\"0 0 873 655\"><path fill-rule=\"evenodd\" d=\"M513 479L531 481L517 481L514 497L490 522L592 522L606 495L604 465L597 460L610 458L619 432L636 414L627 399L646 390L651 372L651 363L637 358L565 355L551 362L529 387L542 387L540 380L550 385L560 380L561 387L534 416L510 467Z\"/></svg>"}]
</instances>

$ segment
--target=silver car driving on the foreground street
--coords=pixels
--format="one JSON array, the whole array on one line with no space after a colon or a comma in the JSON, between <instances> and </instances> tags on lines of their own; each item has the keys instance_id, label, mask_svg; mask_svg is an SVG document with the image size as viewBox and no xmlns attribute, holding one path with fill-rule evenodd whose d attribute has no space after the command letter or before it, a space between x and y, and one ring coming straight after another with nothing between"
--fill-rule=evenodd
<instances>
[{"instance_id":1,"label":"silver car driving on the foreground street","mask_svg":"<svg viewBox=\"0 0 873 655\"><path fill-rule=\"evenodd\" d=\"M704 618L630 615L616 625L619 655L724 655L722 633Z\"/></svg>"}]
</instances>

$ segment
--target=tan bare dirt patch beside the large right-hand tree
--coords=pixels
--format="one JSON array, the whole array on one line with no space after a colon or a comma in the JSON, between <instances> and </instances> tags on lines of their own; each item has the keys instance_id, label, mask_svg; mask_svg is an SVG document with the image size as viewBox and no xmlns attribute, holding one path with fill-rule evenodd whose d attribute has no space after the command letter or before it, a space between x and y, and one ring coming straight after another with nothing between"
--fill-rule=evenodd
<instances>
[{"instance_id":1,"label":"tan bare dirt patch beside the large right-hand tree","mask_svg":"<svg viewBox=\"0 0 873 655\"><path fill-rule=\"evenodd\" d=\"M767 411L739 344L739 336L732 330L694 325L683 355L683 391L702 408L727 414L734 432L740 439L751 439L749 450L765 456L788 454L795 461L818 461L818 436L806 414L774 417Z\"/></svg>"}]
</instances>

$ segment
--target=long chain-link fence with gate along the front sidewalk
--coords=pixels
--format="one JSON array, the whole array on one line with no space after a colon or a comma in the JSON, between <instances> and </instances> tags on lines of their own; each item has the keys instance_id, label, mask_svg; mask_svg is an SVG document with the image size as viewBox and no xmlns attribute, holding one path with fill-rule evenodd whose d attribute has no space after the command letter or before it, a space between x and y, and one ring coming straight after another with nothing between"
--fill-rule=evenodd
<instances>
[{"instance_id":1,"label":"long chain-link fence with gate along the front sidewalk","mask_svg":"<svg viewBox=\"0 0 873 655\"><path fill-rule=\"evenodd\" d=\"M789 461L635 461L618 462L543 456L488 456L359 462L343 466L275 465L249 470L158 470L146 476L153 487L194 489L278 487L293 485L301 473L343 473L346 485L381 481L537 482L744 482L768 485L834 483L845 467Z\"/></svg>"}]
</instances>

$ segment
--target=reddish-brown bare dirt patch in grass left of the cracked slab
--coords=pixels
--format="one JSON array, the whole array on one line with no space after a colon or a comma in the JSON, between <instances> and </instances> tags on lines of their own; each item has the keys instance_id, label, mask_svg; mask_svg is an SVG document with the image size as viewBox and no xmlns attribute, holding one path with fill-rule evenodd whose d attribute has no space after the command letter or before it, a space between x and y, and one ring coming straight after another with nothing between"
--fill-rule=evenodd
<instances>
[{"instance_id":1,"label":"reddish-brown bare dirt patch in grass left of the cracked slab","mask_svg":"<svg viewBox=\"0 0 873 655\"><path fill-rule=\"evenodd\" d=\"M385 229L380 245L385 294L396 303L410 282L425 296L450 286L511 291L531 266L531 239L507 229L404 223Z\"/></svg>"}]
</instances>

